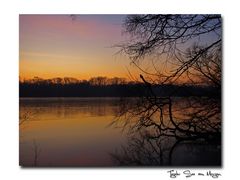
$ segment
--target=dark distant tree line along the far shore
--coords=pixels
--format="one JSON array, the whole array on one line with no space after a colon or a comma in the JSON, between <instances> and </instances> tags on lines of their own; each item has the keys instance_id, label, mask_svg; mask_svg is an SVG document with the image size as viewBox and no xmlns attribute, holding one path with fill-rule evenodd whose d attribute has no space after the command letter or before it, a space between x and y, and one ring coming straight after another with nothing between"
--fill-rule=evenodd
<instances>
[{"instance_id":1,"label":"dark distant tree line along the far shore","mask_svg":"<svg viewBox=\"0 0 240 180\"><path fill-rule=\"evenodd\" d=\"M178 93L175 93L177 90ZM153 85L157 96L209 96L214 87L193 85ZM144 82L127 81L125 78L93 77L33 79L19 81L20 97L141 97L148 94Z\"/></svg>"}]
</instances>

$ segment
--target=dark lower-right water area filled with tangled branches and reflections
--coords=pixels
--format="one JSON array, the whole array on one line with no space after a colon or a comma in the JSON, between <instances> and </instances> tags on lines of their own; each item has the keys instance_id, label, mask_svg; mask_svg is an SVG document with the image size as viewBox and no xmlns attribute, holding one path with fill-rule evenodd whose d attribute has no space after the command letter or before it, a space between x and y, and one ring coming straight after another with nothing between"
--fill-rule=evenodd
<instances>
[{"instance_id":1,"label":"dark lower-right water area filled with tangled branches and reflections","mask_svg":"<svg viewBox=\"0 0 240 180\"><path fill-rule=\"evenodd\" d=\"M220 107L199 97L125 101L114 123L128 142L111 156L120 166L220 166Z\"/></svg>"}]
</instances>

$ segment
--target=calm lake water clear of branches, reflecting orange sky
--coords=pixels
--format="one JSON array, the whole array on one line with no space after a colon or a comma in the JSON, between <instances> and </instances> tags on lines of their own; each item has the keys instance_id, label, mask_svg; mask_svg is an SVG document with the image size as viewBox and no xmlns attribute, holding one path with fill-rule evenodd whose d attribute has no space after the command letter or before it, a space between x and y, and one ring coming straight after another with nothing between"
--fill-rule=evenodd
<instances>
[{"instance_id":1,"label":"calm lake water clear of branches, reflecting orange sky","mask_svg":"<svg viewBox=\"0 0 240 180\"><path fill-rule=\"evenodd\" d=\"M108 127L118 98L21 98L21 166L114 166L110 153L127 144L126 134ZM192 153L189 153L192 152ZM184 145L175 165L220 164L215 146Z\"/></svg>"}]
</instances>

